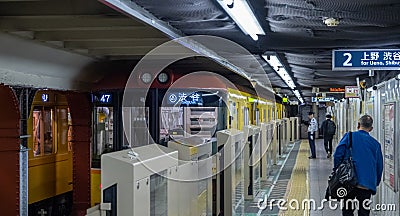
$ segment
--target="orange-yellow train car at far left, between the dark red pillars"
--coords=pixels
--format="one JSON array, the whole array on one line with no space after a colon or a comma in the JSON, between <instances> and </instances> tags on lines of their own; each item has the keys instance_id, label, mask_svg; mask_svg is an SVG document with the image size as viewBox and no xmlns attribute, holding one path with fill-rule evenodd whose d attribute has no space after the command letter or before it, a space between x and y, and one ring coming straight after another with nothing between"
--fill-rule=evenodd
<instances>
[{"instance_id":1,"label":"orange-yellow train car at far left, between the dark red pillars","mask_svg":"<svg viewBox=\"0 0 400 216\"><path fill-rule=\"evenodd\" d=\"M54 91L37 91L28 119L29 215L71 214L70 125L66 97Z\"/></svg>"}]
</instances>

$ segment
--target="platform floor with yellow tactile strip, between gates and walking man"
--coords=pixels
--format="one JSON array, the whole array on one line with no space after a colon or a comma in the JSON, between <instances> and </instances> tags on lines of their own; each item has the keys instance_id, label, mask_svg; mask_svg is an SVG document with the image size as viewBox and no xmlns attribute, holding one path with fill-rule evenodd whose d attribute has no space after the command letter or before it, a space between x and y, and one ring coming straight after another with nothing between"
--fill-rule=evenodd
<instances>
[{"instance_id":1,"label":"platform floor with yellow tactile strip, between gates and walking man","mask_svg":"<svg viewBox=\"0 0 400 216\"><path fill-rule=\"evenodd\" d=\"M302 140L290 146L288 153L281 158L280 166L276 167L277 171L271 177L269 185L265 189L269 193L268 201L272 199L284 199L288 202L298 200L299 209L294 210L287 204L285 206L287 210L279 210L278 204L274 202L273 206L267 205L265 210L258 210L257 213L254 213L254 209L247 208L245 215L340 216L341 210L339 208L333 210L329 207L329 203L324 203L323 208L321 207L321 200L325 197L333 159L326 157L322 139L316 140L316 151L317 158L308 159L310 148L307 140ZM271 187L272 185L274 187ZM314 200L316 202L315 207L312 206L311 209L302 208L301 203L304 200ZM292 202L292 206L295 205L295 202ZM318 209L318 207L321 209Z\"/></svg>"}]
</instances>

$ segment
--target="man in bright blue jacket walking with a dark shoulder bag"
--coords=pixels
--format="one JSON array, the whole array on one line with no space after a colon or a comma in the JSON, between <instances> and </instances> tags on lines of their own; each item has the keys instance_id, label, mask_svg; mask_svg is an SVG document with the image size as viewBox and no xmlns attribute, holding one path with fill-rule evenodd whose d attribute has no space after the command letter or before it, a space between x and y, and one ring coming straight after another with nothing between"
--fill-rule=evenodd
<instances>
[{"instance_id":1,"label":"man in bright blue jacket walking with a dark shoulder bag","mask_svg":"<svg viewBox=\"0 0 400 216\"><path fill-rule=\"evenodd\" d=\"M357 177L357 186L351 190L344 203L348 200L358 201L358 216L369 215L369 204L371 195L376 194L376 188L381 182L383 171L383 157L381 144L369 135L372 131L373 119L369 115L362 116L358 121L358 131L352 132L352 150L346 151L349 141L349 133L346 133L334 154L334 166L337 167L343 158L352 157ZM350 155L351 154L351 155ZM366 204L365 204L366 203ZM364 205L363 205L364 204ZM343 216L354 215L354 205L344 205Z\"/></svg>"}]
</instances>

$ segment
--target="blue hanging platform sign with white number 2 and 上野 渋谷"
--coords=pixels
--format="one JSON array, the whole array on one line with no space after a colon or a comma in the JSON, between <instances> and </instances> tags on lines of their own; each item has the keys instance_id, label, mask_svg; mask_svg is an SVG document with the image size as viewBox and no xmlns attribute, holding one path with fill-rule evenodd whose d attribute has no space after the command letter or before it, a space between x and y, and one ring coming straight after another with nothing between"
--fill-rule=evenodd
<instances>
[{"instance_id":1,"label":"blue hanging platform sign with white number 2 and \u4e0a\u91ce \u6e0b\u8c37","mask_svg":"<svg viewBox=\"0 0 400 216\"><path fill-rule=\"evenodd\" d=\"M333 50L332 70L400 70L400 49Z\"/></svg>"}]
</instances>

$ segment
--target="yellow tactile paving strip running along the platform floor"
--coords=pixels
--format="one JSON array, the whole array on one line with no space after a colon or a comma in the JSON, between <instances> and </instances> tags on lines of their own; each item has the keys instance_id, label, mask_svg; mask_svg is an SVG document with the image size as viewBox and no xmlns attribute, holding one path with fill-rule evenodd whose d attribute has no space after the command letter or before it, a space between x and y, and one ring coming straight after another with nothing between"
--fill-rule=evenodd
<instances>
[{"instance_id":1,"label":"yellow tactile paving strip running along the platform floor","mask_svg":"<svg viewBox=\"0 0 400 216\"><path fill-rule=\"evenodd\" d=\"M302 206L303 200L310 198L310 185L308 180L309 160L308 156L310 147L307 140L303 140L297 154L296 164L293 167L292 176L288 183L285 200L287 201L286 209L280 210L279 215L284 216L309 216L309 209ZM297 200L299 205L297 209ZM296 207L296 209L295 209Z\"/></svg>"}]
</instances>

